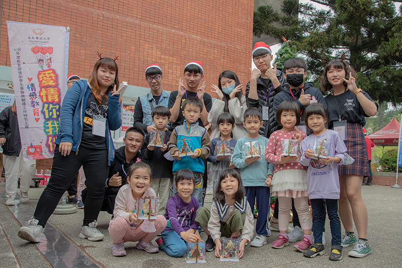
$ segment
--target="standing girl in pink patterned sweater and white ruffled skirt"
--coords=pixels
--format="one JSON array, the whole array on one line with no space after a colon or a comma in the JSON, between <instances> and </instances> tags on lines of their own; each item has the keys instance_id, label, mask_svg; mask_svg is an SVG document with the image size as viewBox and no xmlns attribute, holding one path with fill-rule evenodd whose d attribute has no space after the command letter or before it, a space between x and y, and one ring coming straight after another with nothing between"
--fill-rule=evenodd
<instances>
[{"instance_id":1,"label":"standing girl in pink patterned sweater and white ruffled skirt","mask_svg":"<svg viewBox=\"0 0 402 268\"><path fill-rule=\"evenodd\" d=\"M265 160L275 164L272 178L272 196L279 199L279 236L272 243L273 248L283 248L289 245L287 228L289 212L294 199L294 207L298 213L304 237L294 244L300 252L307 250L312 244L312 220L309 211L307 194L307 168L298 162L297 156L282 155L282 140L297 139L298 148L306 133L300 132L294 126L300 123L300 109L295 102L282 102L276 112L276 120L282 126L271 134L265 150ZM283 152L285 153L285 152ZM299 155L299 150L296 152Z\"/></svg>"}]
</instances>

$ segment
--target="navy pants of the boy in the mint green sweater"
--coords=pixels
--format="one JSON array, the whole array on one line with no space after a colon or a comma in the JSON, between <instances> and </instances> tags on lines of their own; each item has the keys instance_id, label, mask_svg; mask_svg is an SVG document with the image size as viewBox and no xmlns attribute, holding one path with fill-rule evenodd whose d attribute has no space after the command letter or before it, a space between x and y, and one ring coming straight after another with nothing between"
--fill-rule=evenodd
<instances>
[{"instance_id":1,"label":"navy pants of the boy in the mint green sweater","mask_svg":"<svg viewBox=\"0 0 402 268\"><path fill-rule=\"evenodd\" d=\"M268 235L270 193L269 187L265 186L248 186L246 189L247 201L250 204L251 211L254 211L254 204L257 200L258 217L255 224L255 232L259 235Z\"/></svg>"}]
</instances>

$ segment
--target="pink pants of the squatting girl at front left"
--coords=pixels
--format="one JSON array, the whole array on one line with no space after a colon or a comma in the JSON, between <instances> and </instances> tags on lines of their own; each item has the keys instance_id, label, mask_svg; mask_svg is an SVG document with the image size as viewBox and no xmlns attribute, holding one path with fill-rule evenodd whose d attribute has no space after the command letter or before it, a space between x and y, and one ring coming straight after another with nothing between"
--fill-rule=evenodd
<instances>
[{"instance_id":1,"label":"pink pants of the squatting girl at front left","mask_svg":"<svg viewBox=\"0 0 402 268\"><path fill-rule=\"evenodd\" d=\"M140 240L149 243L166 228L166 224L165 217L158 215L158 219L155 221L156 231L153 233L146 233L141 230L140 226L136 229L132 229L125 218L118 217L110 222L108 230L112 237L112 241L115 244L128 241L136 242Z\"/></svg>"}]
</instances>

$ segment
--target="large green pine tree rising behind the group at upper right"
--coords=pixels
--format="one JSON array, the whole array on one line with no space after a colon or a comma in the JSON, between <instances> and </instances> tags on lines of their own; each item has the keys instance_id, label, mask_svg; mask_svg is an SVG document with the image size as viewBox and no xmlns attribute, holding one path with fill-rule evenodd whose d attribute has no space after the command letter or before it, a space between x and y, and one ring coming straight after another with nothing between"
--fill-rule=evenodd
<instances>
[{"instance_id":1,"label":"large green pine tree rising behind the group at upper right","mask_svg":"<svg viewBox=\"0 0 402 268\"><path fill-rule=\"evenodd\" d=\"M357 85L380 102L402 103L402 6L391 0L311 0L326 9L285 0L282 13L270 6L254 12L254 35L291 40L307 59L315 85L322 58L345 53L357 71ZM282 42L282 41L281 41Z\"/></svg>"}]
</instances>

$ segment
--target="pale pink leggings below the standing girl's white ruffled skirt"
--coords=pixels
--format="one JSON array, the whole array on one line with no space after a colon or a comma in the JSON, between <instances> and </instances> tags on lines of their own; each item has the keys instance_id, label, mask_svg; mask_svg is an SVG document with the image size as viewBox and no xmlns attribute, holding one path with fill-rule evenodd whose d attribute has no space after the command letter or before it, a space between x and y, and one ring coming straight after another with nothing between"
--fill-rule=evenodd
<instances>
[{"instance_id":1,"label":"pale pink leggings below the standing girl's white ruffled skirt","mask_svg":"<svg viewBox=\"0 0 402 268\"><path fill-rule=\"evenodd\" d=\"M287 233L290 218L290 208L292 207L292 199L290 197L279 198L279 231ZM312 220L309 210L309 202L307 197L294 198L294 208L297 211L298 219L302 230L311 230Z\"/></svg>"}]
</instances>

